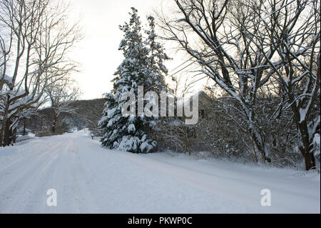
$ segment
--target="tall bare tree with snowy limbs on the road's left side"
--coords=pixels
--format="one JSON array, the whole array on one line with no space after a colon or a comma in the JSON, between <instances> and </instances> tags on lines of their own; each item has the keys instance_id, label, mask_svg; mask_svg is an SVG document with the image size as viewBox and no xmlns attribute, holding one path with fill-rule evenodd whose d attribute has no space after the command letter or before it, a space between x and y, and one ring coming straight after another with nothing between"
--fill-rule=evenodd
<instances>
[{"instance_id":1,"label":"tall bare tree with snowy limbs on the road's left side","mask_svg":"<svg viewBox=\"0 0 321 228\"><path fill-rule=\"evenodd\" d=\"M81 36L67 9L51 0L0 0L0 145L12 118L39 106L46 88L76 68L66 52Z\"/></svg>"}]
</instances>

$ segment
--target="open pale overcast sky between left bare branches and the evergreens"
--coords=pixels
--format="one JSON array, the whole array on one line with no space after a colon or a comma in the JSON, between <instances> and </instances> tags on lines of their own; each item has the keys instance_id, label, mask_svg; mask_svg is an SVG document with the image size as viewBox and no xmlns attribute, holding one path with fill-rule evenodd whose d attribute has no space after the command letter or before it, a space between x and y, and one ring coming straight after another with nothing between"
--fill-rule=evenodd
<instances>
[{"instance_id":1,"label":"open pale overcast sky between left bare branches and the evergreens","mask_svg":"<svg viewBox=\"0 0 321 228\"><path fill-rule=\"evenodd\" d=\"M111 79L123 59L118 46L123 38L118 26L129 20L128 12L134 6L142 21L154 10L168 9L168 0L65 0L71 2L71 19L81 17L84 38L71 53L81 64L75 78L83 92L81 99L101 98L112 88ZM146 24L146 23L143 23ZM167 50L173 61L165 64L173 69L182 63L183 56Z\"/></svg>"}]
</instances>

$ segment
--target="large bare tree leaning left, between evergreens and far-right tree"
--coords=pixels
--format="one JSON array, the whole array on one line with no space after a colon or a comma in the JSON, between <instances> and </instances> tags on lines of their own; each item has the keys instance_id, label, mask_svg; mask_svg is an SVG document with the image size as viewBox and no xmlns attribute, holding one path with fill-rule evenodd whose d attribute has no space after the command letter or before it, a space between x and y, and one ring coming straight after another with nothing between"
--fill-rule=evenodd
<instances>
[{"instance_id":1,"label":"large bare tree leaning left, between evergreens and far-right tree","mask_svg":"<svg viewBox=\"0 0 321 228\"><path fill-rule=\"evenodd\" d=\"M202 66L203 74L240 104L250 138L265 161L265 133L257 122L255 106L258 89L273 74L267 62L272 61L275 47L265 41L264 2L175 0L175 4L175 18L161 17L165 39L178 42ZM247 30L257 36L248 37ZM263 46L255 48L254 42Z\"/></svg>"}]
</instances>

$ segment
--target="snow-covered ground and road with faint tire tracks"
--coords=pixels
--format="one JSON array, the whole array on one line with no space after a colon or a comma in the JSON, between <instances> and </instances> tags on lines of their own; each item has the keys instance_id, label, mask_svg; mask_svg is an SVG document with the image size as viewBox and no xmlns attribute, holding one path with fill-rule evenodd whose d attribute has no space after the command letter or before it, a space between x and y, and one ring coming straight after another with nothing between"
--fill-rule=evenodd
<instances>
[{"instance_id":1,"label":"snow-covered ground and road with faint tire tracks","mask_svg":"<svg viewBox=\"0 0 321 228\"><path fill-rule=\"evenodd\" d=\"M46 204L56 189L57 206ZM271 206L260 191L270 189ZM0 213L320 213L320 174L100 147L83 131L0 149Z\"/></svg>"}]
</instances>

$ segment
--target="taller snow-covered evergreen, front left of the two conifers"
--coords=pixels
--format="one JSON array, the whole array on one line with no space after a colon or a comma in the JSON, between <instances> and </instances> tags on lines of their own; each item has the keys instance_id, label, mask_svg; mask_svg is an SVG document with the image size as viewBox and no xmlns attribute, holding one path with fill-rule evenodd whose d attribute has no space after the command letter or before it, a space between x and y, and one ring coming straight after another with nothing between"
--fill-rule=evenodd
<instances>
[{"instance_id":1,"label":"taller snow-covered evergreen, front left of the two conifers","mask_svg":"<svg viewBox=\"0 0 321 228\"><path fill-rule=\"evenodd\" d=\"M155 126L153 117L123 116L121 109L126 103L123 93L138 94L138 86L147 86L149 49L143 42L141 21L137 10L131 8L129 24L120 26L124 33L119 50L123 51L123 62L115 73L112 94L106 94L106 105L99 126L104 134L103 147L133 153L147 153L156 147L156 142L148 139L147 132ZM155 81L153 81L155 83ZM137 114L136 100L136 114Z\"/></svg>"}]
</instances>

